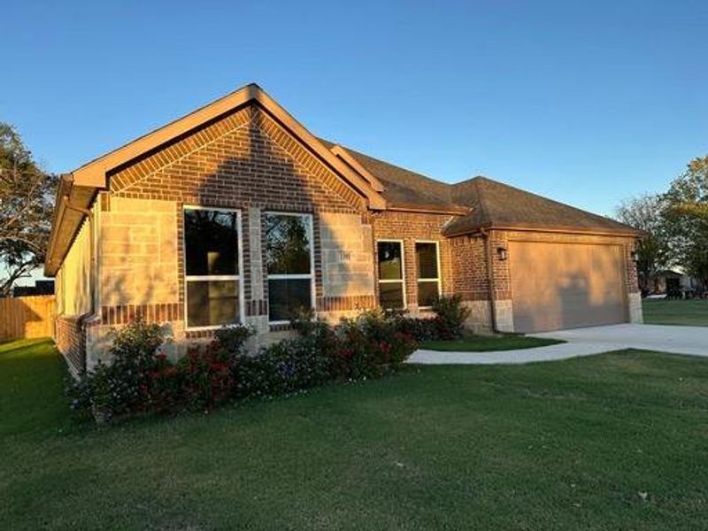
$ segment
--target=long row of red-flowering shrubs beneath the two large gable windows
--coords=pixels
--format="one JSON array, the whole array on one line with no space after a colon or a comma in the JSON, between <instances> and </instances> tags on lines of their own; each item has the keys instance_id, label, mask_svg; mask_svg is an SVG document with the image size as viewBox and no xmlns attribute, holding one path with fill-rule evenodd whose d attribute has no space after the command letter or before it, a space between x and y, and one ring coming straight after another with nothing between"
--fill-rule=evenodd
<instances>
[{"instance_id":1,"label":"long row of red-flowering shrubs beneath the two large gable windows","mask_svg":"<svg viewBox=\"0 0 708 531\"><path fill-rule=\"evenodd\" d=\"M398 369L416 344L381 311L362 312L332 327L301 319L300 334L243 351L252 331L226 327L176 363L159 351L165 332L137 320L114 335L112 360L69 389L73 408L96 419L139 412L208 411L233 398L287 395L328 381L381 376Z\"/></svg>"}]
</instances>

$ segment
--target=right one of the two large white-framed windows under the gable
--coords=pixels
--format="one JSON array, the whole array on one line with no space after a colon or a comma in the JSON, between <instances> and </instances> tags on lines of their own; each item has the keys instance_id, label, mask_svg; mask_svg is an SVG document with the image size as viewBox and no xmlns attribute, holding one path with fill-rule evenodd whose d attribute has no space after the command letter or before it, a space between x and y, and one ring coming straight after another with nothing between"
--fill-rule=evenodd
<instances>
[{"instance_id":1,"label":"right one of the two large white-framed windows under the gable","mask_svg":"<svg viewBox=\"0 0 708 531\"><path fill-rule=\"evenodd\" d=\"M296 310L313 308L312 216L266 213L268 318L289 320Z\"/></svg>"}]
</instances>

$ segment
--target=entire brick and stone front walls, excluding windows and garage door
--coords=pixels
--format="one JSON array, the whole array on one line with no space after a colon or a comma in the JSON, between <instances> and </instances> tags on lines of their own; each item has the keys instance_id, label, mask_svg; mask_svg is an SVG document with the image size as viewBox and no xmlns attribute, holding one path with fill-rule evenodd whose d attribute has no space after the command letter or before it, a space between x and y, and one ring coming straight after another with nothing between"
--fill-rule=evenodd
<instances>
[{"instance_id":1,"label":"entire brick and stone front walls, excluding windows and garage door","mask_svg":"<svg viewBox=\"0 0 708 531\"><path fill-rule=\"evenodd\" d=\"M514 239L622 245L627 292L637 292L630 237L490 230L447 238L443 227L454 215L369 211L365 198L324 158L258 104L213 119L108 176L109 189L94 207L98 311L88 329L81 319L58 319L59 348L77 371L87 350L89 368L101 357L111 327L137 315L168 323L178 349L186 340L212 335L185 329L183 211L190 205L240 212L242 317L257 329L258 344L287 328L268 323L265 212L312 216L314 303L319 315L333 320L377 305L376 242L381 239L403 241L406 303L413 315L419 314L415 243L437 242L441 291L462 296L473 311L468 324L478 331L493 324L513 329L510 266L496 249L508 248ZM635 315L635 300L630 301Z\"/></svg>"}]
</instances>

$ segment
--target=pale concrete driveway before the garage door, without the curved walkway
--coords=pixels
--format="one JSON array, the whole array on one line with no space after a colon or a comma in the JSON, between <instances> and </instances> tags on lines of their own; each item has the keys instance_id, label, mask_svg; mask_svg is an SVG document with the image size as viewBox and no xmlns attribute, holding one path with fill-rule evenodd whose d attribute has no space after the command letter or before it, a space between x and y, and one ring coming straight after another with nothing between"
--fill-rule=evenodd
<instances>
[{"instance_id":1,"label":"pale concrete driveway before the garage door, without the curved walkway","mask_svg":"<svg viewBox=\"0 0 708 531\"><path fill-rule=\"evenodd\" d=\"M668 327L663 325L611 325L573 328L531 334L563 339L576 345L596 345L607 350L642 349L708 356L708 327Z\"/></svg>"}]
</instances>

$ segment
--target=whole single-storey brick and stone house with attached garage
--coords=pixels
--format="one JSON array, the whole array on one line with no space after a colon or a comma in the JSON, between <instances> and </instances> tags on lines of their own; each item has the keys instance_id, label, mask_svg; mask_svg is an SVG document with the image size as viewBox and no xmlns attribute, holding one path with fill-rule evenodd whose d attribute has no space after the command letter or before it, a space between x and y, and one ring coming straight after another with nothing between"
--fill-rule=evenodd
<instances>
[{"instance_id":1,"label":"whole single-storey brick and stone house with attached garage","mask_svg":"<svg viewBox=\"0 0 708 531\"><path fill-rule=\"evenodd\" d=\"M178 350L235 321L272 341L299 306L426 315L438 294L462 296L477 331L640 321L636 235L321 140L249 85L64 175L45 273L59 349L81 370L138 313Z\"/></svg>"}]
</instances>

